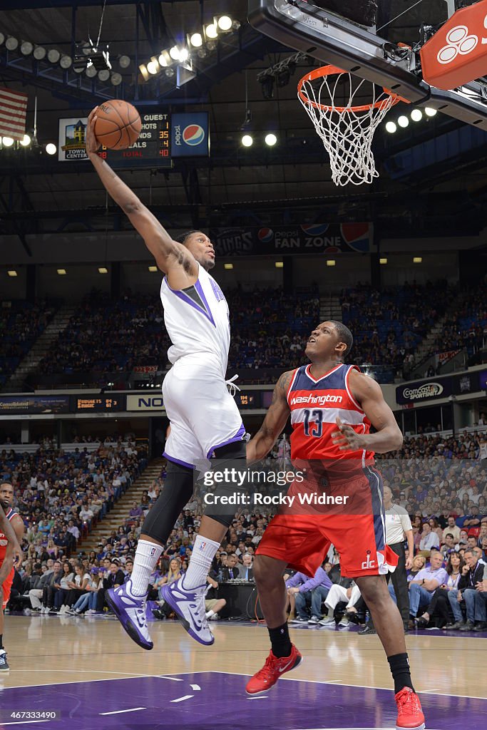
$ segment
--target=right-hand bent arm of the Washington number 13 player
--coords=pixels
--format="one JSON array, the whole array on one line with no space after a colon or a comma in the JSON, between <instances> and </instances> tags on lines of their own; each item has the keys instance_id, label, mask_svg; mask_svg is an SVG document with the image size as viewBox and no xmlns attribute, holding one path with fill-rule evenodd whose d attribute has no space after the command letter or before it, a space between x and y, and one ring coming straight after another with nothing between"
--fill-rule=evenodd
<instances>
[{"instance_id":1,"label":"right-hand bent arm of the Washington number 13 player","mask_svg":"<svg viewBox=\"0 0 487 730\"><path fill-rule=\"evenodd\" d=\"M396 423L394 413L384 400L380 385L372 377L357 370L350 372L350 390L353 398L361 406L372 426L375 434L357 434L351 426L342 423L337 418L339 431L334 431L331 438L340 451L366 449L377 453L387 453L402 447L401 429Z\"/></svg>"}]
</instances>

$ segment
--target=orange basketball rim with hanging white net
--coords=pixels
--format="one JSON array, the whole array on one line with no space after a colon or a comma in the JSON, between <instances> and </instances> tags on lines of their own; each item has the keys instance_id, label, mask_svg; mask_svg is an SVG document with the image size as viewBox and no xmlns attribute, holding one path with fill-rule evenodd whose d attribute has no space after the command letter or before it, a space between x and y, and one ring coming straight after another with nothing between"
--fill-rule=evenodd
<instances>
[{"instance_id":1,"label":"orange basketball rim with hanging white net","mask_svg":"<svg viewBox=\"0 0 487 730\"><path fill-rule=\"evenodd\" d=\"M354 104L369 88L372 101ZM340 107L335 104L339 95ZM335 185L372 183L379 176L372 154L375 130L394 104L406 100L336 66L323 66L303 76L298 97L330 156Z\"/></svg>"}]
</instances>

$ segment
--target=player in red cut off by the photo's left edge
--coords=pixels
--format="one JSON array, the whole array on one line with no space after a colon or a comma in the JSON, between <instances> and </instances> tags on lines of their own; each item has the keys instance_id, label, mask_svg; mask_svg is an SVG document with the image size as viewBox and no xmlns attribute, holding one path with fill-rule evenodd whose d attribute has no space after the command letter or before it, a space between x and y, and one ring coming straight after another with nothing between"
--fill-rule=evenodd
<instances>
[{"instance_id":1,"label":"player in red cut off by the photo's left edge","mask_svg":"<svg viewBox=\"0 0 487 730\"><path fill-rule=\"evenodd\" d=\"M7 652L4 650L4 610L10 598L10 589L15 575L15 556L22 556L20 541L24 524L17 512L12 510L14 488L9 482L0 484L0 587L2 602L0 610L0 672L8 672Z\"/></svg>"}]
</instances>

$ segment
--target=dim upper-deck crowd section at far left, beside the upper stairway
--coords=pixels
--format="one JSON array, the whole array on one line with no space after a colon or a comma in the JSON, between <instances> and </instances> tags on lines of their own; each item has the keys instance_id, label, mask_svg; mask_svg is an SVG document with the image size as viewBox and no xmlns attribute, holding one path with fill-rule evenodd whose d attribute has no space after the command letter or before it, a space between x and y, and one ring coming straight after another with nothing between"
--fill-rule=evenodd
<instances>
[{"instance_id":1,"label":"dim upper-deck crowd section at far left, beside the upper stairway","mask_svg":"<svg viewBox=\"0 0 487 730\"><path fill-rule=\"evenodd\" d=\"M15 371L20 360L53 318L58 304L47 299L0 302L0 385Z\"/></svg>"}]
</instances>

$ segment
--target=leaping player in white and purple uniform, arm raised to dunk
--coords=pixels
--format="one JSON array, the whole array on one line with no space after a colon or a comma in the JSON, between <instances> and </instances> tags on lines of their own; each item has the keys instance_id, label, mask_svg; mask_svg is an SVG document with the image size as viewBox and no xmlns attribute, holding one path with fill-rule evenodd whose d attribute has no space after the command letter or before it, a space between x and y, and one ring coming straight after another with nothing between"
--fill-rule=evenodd
<instances>
[{"instance_id":1,"label":"leaping player in white and purple uniform, arm raised to dunk","mask_svg":"<svg viewBox=\"0 0 487 730\"><path fill-rule=\"evenodd\" d=\"M152 649L145 618L150 574L156 568L175 521L193 494L193 464L215 456L245 459L245 429L225 375L230 345L229 307L221 288L208 273L215 251L201 231L189 231L175 241L157 218L96 154L96 109L88 118L86 150L101 183L120 205L166 276L161 285L164 323L172 342L172 369L164 378L163 396L171 432L164 456L168 460L164 489L142 526L131 580L108 591L107 602L123 628L139 646ZM213 508L214 509L214 508ZM208 508L187 572L164 586L164 599L184 628L202 644L214 639L205 618L204 591L212 559L233 514Z\"/></svg>"}]
</instances>

